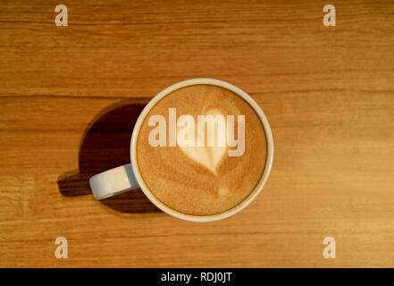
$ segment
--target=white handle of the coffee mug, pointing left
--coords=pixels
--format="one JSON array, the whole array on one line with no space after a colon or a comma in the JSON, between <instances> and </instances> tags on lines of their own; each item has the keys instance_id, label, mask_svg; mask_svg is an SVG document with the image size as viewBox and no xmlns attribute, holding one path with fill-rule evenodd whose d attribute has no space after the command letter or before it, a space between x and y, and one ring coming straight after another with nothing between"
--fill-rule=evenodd
<instances>
[{"instance_id":1,"label":"white handle of the coffee mug, pointing left","mask_svg":"<svg viewBox=\"0 0 394 286\"><path fill-rule=\"evenodd\" d=\"M110 198L131 189L139 188L131 164L124 164L100 172L90 178L90 188L96 199Z\"/></svg>"}]
</instances>

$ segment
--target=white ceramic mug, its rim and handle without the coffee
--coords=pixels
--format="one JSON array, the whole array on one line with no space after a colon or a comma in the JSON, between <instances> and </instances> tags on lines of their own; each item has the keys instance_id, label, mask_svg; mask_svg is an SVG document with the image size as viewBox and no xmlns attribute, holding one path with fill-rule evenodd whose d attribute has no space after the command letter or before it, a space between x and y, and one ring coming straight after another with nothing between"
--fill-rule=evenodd
<instances>
[{"instance_id":1,"label":"white ceramic mug, its rim and handle without the coffee","mask_svg":"<svg viewBox=\"0 0 394 286\"><path fill-rule=\"evenodd\" d=\"M155 106L155 104L162 99L163 97L167 96L168 94L172 93L172 91L184 88L191 85L197 84L207 84L207 85L214 85L221 88L227 88L237 94L239 97L244 98L249 105L253 107L256 114L259 116L261 122L264 126L265 137L267 141L267 157L266 157L266 164L263 176L260 178L260 181L257 183L256 188L249 194L249 196L242 201L238 206L234 206L230 210L227 210L221 214L211 214L211 215L191 215L191 214L182 214L169 206L165 206L160 200L155 198L152 192L147 188L147 185L142 180L141 174L139 173L138 163L137 163L137 138L138 132L140 130L142 122L144 122L145 117ZM171 87L165 88L162 92L157 94L152 100L145 106L144 110L141 114L139 114L138 120L136 125L134 126L134 130L131 136L131 143L130 143L130 159L131 164L125 164L120 167L100 172L95 176L90 178L90 187L93 191L93 195L96 199L103 199L113 197L114 195L121 194L125 191L129 191L132 189L142 189L145 193L147 198L155 204L158 208L160 208L163 212L167 214L171 214L177 218L192 221L192 222L213 222L217 220L221 220L223 218L229 217L232 214L238 213L244 207L249 205L260 193L260 191L264 188L264 184L268 179L268 176L271 172L272 167L272 158L273 158L273 140L272 140L272 131L270 124L265 117L263 111L261 110L260 106L256 104L256 101L247 95L246 92L231 85L228 82L222 80L213 80L213 79L194 79L194 80L184 80L178 83L173 84Z\"/></svg>"}]
</instances>

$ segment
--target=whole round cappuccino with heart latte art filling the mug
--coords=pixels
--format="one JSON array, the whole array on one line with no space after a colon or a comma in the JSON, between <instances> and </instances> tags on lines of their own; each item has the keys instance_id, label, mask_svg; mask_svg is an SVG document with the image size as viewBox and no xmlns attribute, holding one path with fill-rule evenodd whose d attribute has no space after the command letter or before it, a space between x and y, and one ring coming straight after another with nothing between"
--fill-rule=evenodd
<instances>
[{"instance_id":1,"label":"whole round cappuccino with heart latte art filling the mug","mask_svg":"<svg viewBox=\"0 0 394 286\"><path fill-rule=\"evenodd\" d=\"M238 206L263 176L267 141L245 99L197 84L160 99L142 122L137 164L165 206L182 214L221 214Z\"/></svg>"}]
</instances>

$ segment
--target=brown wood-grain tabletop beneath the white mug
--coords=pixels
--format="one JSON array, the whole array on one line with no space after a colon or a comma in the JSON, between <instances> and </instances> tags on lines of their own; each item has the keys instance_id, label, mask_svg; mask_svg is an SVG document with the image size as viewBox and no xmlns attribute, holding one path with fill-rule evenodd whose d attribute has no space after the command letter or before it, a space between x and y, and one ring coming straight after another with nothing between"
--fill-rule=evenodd
<instances>
[{"instance_id":1,"label":"brown wood-grain tabletop beneath the white mug","mask_svg":"<svg viewBox=\"0 0 394 286\"><path fill-rule=\"evenodd\" d=\"M394 266L392 1L0 6L0 266ZM96 201L89 176L130 162L147 101L200 77L246 90L271 122L256 201L216 223L163 214L141 191Z\"/></svg>"}]
</instances>

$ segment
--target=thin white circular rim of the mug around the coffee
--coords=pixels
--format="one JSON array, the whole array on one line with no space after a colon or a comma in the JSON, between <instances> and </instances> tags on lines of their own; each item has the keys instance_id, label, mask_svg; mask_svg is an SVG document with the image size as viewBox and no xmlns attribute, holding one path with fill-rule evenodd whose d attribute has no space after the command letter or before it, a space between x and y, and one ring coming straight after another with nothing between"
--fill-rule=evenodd
<instances>
[{"instance_id":1,"label":"thin white circular rim of the mug around the coffee","mask_svg":"<svg viewBox=\"0 0 394 286\"><path fill-rule=\"evenodd\" d=\"M264 169L263 175L260 178L260 181L258 181L255 189L253 189L250 192L250 194L247 196L247 198L245 198L241 203L239 203L239 205L234 206L231 209L226 210L226 211L219 213L219 214L208 214L208 215L183 214L177 210L172 209L170 206L164 205L158 198L155 198L155 195L149 190L149 188L147 188L147 185L145 184L145 181L142 179L142 176L141 176L141 174L139 172L139 168L138 168L137 139L138 139L138 134L139 134L139 130L141 128L142 122L144 122L149 111L153 108L153 106L155 106L155 104L159 100L161 100L163 97L166 97L167 95L172 93L172 91L177 90L179 88L185 88L188 86L198 85L198 84L214 85L214 86L218 86L221 88L226 88L226 89L231 90L235 94L237 94L239 97L242 97L244 100L246 100L247 103L252 106L252 108L254 109L254 111L256 112L258 117L260 118L260 121L263 123L265 138L267 140L267 156L266 156L266 162L265 162L265 169ZM271 130L270 123L268 122L260 105L258 105L256 103L256 101L252 97L250 97L242 89L232 85L229 82L222 81L222 80L205 79L205 78L192 79L192 80L182 80L182 81L174 83L171 86L164 88L162 91L160 91L155 97L153 97L149 101L149 103L142 110L141 114L139 114L138 120L134 126L134 130L131 135L130 160L131 160L131 166L132 166L134 175L138 181L139 188L144 192L144 194L147 196L147 198L155 206L157 206L159 209L161 209L164 213L170 214L170 215L177 217L181 220L185 220L185 221L189 221L189 222L214 222L214 221L218 221L218 220L222 220L224 218L227 218L233 214L239 213L239 211L241 211L246 206L248 206L264 188L264 185L265 185L266 181L268 180L268 177L269 177L271 169L272 169L272 161L273 161L272 130Z\"/></svg>"}]
</instances>

